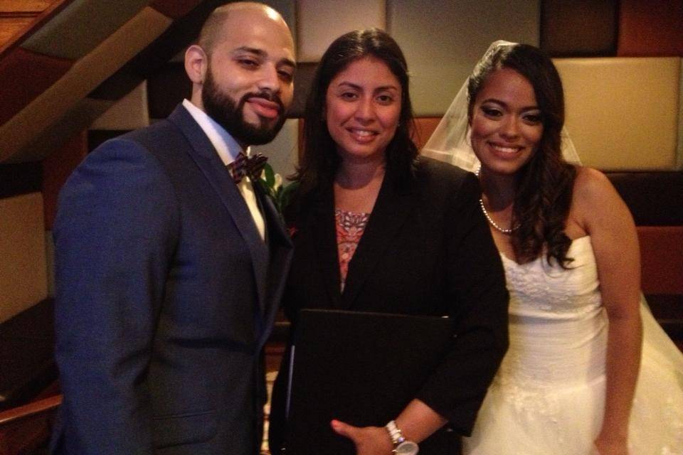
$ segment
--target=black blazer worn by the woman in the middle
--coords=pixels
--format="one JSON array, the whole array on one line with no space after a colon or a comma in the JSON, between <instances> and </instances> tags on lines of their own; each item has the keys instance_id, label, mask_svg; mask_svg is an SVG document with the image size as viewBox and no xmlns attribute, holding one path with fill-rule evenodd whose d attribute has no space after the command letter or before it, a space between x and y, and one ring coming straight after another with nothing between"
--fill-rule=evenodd
<instances>
[{"instance_id":1,"label":"black blazer worn by the woman in the middle","mask_svg":"<svg viewBox=\"0 0 683 455\"><path fill-rule=\"evenodd\" d=\"M455 321L455 343L417 398L460 434L470 434L507 350L508 293L480 193L474 174L425 157L406 188L387 173L343 293L332 187L302 200L288 223L295 255L285 311L294 324L301 308L448 315ZM287 358L282 365L286 373ZM274 444L282 438L285 378L281 370L272 405Z\"/></svg>"}]
</instances>

